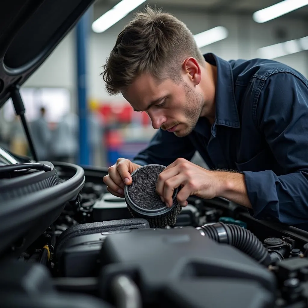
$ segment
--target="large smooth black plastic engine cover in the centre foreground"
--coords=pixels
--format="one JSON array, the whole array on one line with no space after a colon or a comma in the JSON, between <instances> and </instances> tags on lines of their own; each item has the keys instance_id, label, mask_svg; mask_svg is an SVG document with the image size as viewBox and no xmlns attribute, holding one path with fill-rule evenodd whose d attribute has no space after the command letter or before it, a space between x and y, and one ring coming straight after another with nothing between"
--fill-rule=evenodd
<instances>
[{"instance_id":1,"label":"large smooth black plastic engine cover in the centre foreground","mask_svg":"<svg viewBox=\"0 0 308 308\"><path fill-rule=\"evenodd\" d=\"M106 299L111 280L126 274L139 286L145 304L185 307L186 302L186 307L188 303L189 307L223 307L233 301L237 308L274 305L276 280L272 273L239 250L218 244L192 227L110 234L102 245L101 265L101 290ZM167 289L170 292L166 293ZM249 297L243 297L245 290ZM243 301L239 301L241 297Z\"/></svg>"}]
</instances>

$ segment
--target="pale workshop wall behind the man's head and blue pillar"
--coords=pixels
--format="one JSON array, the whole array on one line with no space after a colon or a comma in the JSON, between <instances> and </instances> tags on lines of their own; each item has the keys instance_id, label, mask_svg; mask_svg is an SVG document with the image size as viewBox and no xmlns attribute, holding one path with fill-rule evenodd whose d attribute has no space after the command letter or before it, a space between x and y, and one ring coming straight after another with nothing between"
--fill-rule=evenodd
<instances>
[{"instance_id":1,"label":"pale workshop wall behind the man's head and blue pillar","mask_svg":"<svg viewBox=\"0 0 308 308\"><path fill-rule=\"evenodd\" d=\"M95 10L93 18L99 17L106 8ZM225 26L229 30L229 37L223 41L203 47L202 52L213 52L229 59L249 59L257 57L257 48L279 43L290 39L297 39L308 35L308 23L287 17L257 24L247 15L208 15L200 12L171 11L182 20L188 28L197 34L215 26ZM127 16L102 34L91 31L87 48L88 58L88 96L91 99L115 101L123 100L120 96L110 96L106 93L103 79L99 74L102 65L114 46L120 30L128 23L132 15ZM286 37L279 41L275 37L277 28L286 30ZM25 83L27 87L67 87L72 93L72 106L75 106L75 32L72 31L55 49L45 63ZM308 77L308 51L302 51L276 59L286 63Z\"/></svg>"}]
</instances>

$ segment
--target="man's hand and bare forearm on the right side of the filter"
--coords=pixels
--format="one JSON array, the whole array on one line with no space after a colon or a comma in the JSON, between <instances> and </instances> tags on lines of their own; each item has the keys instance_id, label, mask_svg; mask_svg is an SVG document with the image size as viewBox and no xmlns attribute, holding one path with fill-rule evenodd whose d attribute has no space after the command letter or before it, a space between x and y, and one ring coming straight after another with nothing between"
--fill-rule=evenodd
<instances>
[{"instance_id":1,"label":"man's hand and bare forearm on the right side of the filter","mask_svg":"<svg viewBox=\"0 0 308 308\"><path fill-rule=\"evenodd\" d=\"M244 175L240 173L209 171L179 158L160 173L156 184L157 193L168 207L172 206L177 187L181 187L176 197L181 206L186 206L187 198L195 195L204 199L224 197L251 208Z\"/></svg>"}]
</instances>

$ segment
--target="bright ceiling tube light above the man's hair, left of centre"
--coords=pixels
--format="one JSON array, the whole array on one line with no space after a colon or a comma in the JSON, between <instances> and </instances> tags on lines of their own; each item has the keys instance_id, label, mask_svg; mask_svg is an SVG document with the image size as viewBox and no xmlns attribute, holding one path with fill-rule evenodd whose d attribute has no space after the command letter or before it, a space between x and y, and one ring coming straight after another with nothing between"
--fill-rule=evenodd
<instances>
[{"instance_id":1,"label":"bright ceiling tube light above the man's hair, left of centre","mask_svg":"<svg viewBox=\"0 0 308 308\"><path fill-rule=\"evenodd\" d=\"M106 31L145 1L146 0L122 0L111 10L96 19L95 22L92 23L92 30L96 33Z\"/></svg>"}]
</instances>

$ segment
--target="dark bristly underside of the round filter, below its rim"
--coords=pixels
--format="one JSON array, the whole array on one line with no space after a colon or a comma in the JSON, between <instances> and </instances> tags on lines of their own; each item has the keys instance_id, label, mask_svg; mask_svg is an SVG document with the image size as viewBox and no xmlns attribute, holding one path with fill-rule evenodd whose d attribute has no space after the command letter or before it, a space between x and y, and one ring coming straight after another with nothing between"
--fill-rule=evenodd
<instances>
[{"instance_id":1,"label":"dark bristly underside of the round filter, below its rim","mask_svg":"<svg viewBox=\"0 0 308 308\"><path fill-rule=\"evenodd\" d=\"M135 212L128 204L127 208L131 213L132 217L142 217L139 213ZM164 215L153 216L153 218L143 216L142 218L145 218L149 222L150 228L164 229L167 226L174 226L176 224L176 218L180 214L181 210L182 207L178 204Z\"/></svg>"}]
</instances>

